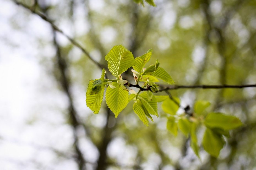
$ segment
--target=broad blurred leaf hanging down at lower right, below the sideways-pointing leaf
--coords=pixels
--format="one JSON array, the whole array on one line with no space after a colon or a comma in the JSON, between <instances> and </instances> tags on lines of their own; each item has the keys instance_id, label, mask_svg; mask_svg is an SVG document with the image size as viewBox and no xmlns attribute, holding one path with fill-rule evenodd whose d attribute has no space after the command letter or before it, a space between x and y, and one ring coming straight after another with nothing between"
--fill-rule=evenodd
<instances>
[{"instance_id":1,"label":"broad blurred leaf hanging down at lower right, below the sideways-pointing leaf","mask_svg":"<svg viewBox=\"0 0 256 170\"><path fill-rule=\"evenodd\" d=\"M218 157L220 150L223 148L225 141L221 135L211 129L206 129L203 136L203 147L213 157Z\"/></svg>"}]
</instances>

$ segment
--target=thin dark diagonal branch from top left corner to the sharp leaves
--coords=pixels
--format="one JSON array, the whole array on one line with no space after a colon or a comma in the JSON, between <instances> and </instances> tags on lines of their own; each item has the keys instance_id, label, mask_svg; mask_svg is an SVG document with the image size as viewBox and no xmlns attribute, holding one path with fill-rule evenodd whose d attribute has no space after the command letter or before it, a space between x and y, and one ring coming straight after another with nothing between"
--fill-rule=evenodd
<instances>
[{"instance_id":1,"label":"thin dark diagonal branch from top left corner to the sharp leaves","mask_svg":"<svg viewBox=\"0 0 256 170\"><path fill-rule=\"evenodd\" d=\"M40 18L42 18L43 20L45 20L46 22L48 22L51 27L53 27L53 29L59 33L61 33L62 35L64 35L74 46L76 46L77 48L79 48L95 65L97 65L100 69L105 68L103 65L101 65L100 63L96 62L92 56L89 54L89 52L82 47L82 45L80 43L78 43L76 40L74 40L72 37L70 37L69 35L65 34L59 27L57 27L53 21L51 19L49 19L47 16L45 16L43 13L38 12L36 10L33 10L29 5L23 4L22 2L18 2L16 0L13 0L17 5L22 6L25 9L28 9L31 13L34 13L38 16L40 16Z\"/></svg>"}]
</instances>

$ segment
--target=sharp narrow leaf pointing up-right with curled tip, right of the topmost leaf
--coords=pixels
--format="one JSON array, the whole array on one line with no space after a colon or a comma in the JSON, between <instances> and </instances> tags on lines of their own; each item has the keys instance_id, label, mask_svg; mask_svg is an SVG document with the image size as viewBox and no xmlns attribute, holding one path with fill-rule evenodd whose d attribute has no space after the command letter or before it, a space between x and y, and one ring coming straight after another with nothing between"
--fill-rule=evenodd
<instances>
[{"instance_id":1,"label":"sharp narrow leaf pointing up-right with curled tip, right of the topmost leaf","mask_svg":"<svg viewBox=\"0 0 256 170\"><path fill-rule=\"evenodd\" d=\"M152 50L149 49L146 54L143 54L140 57L135 58L135 65L133 66L133 69L137 71L140 75L145 64L150 60L151 55L152 55Z\"/></svg>"}]
</instances>

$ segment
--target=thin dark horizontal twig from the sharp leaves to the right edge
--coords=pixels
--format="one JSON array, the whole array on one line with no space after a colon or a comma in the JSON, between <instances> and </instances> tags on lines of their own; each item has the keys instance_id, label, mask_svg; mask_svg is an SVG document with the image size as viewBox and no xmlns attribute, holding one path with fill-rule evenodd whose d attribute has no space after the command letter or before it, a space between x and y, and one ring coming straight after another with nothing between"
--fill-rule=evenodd
<instances>
[{"instance_id":1,"label":"thin dark horizontal twig from the sharp leaves to the right edge","mask_svg":"<svg viewBox=\"0 0 256 170\"><path fill-rule=\"evenodd\" d=\"M256 87L256 84L245 84L245 85L171 85L171 86L163 87L159 91L175 90L175 89L181 89L181 88L223 89L223 88L247 88L247 87Z\"/></svg>"}]
</instances>

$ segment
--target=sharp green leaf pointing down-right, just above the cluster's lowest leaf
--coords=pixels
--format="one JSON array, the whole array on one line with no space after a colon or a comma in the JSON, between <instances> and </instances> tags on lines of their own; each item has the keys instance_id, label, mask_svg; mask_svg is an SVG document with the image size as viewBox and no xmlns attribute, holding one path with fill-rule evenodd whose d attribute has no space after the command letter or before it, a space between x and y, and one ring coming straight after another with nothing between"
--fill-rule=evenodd
<instances>
[{"instance_id":1,"label":"sharp green leaf pointing down-right, just above the cluster's lowest leaf","mask_svg":"<svg viewBox=\"0 0 256 170\"><path fill-rule=\"evenodd\" d=\"M148 110L149 114L155 115L158 117L157 113L157 102L156 97L152 96L152 100L148 100L148 94L146 91L143 91L138 95L138 98L141 100L142 104L145 106L145 108Z\"/></svg>"}]
</instances>

